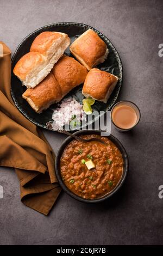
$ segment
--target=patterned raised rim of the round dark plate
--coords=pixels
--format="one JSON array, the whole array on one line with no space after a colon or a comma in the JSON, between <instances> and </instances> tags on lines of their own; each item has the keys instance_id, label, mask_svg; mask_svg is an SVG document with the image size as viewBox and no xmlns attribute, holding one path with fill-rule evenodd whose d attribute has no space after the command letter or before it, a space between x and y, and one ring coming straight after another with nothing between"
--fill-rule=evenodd
<instances>
[{"instance_id":1,"label":"patterned raised rim of the round dark plate","mask_svg":"<svg viewBox=\"0 0 163 256\"><path fill-rule=\"evenodd\" d=\"M123 82L123 65L122 65L122 60L120 58L120 55L118 54L115 46L112 44L112 42L110 41L110 39L108 39L103 33L101 33L100 31L98 31L96 28L93 28L91 27L90 25L87 25L85 23L80 23L80 22L55 22L55 23L51 23L49 25L45 25L45 26L42 26L38 29L35 29L35 31L29 33L25 38L23 38L23 40L20 42L20 44L17 46L14 54L12 55L12 58L11 58L11 78L12 76L14 75L13 74L13 66L12 66L12 63L14 62L15 58L16 58L16 54L20 51L20 48L22 46L22 44L24 43L24 41L26 41L27 39L29 39L31 36L35 35L37 32L41 31L42 29L45 29L45 28L51 28L53 26L71 26L71 25L74 25L74 26L79 26L79 27L87 27L88 29L92 29L93 31L95 31L98 35L101 36L101 38L104 38L106 41L108 41L108 44L111 45L111 47L114 49L114 53L116 54L116 57L118 59L118 65L119 65L119 68L120 68L120 77L119 77L119 86L118 86L118 90L117 90L117 93L114 97L114 99L112 100L112 103L110 106L106 107L104 113L101 113L99 114L97 117L95 117L93 119L93 121L91 123L86 123L86 125L84 126L81 126L79 127L80 130L81 129L85 129L85 127L87 127L88 125L90 124L93 124L95 123L95 121L97 121L99 118L101 118L107 111L109 111L116 103L117 99L118 99L118 95L120 94L120 90L121 90L121 87L122 87L122 82ZM12 79L11 79L12 81ZM48 128L47 126L45 125L42 125L42 124L39 124L37 123L37 121L35 121L33 118L30 118L28 116L28 114L22 109L20 108L20 104L18 103L18 101L16 100L15 96L14 96L14 92L12 91L12 83L11 83L11 89L10 89L10 92L11 92L11 96L12 96L12 100L14 101L15 103L15 106L17 107L18 111L20 111L24 117L26 117L29 121L31 121L33 124L35 124L36 126L39 126L43 129L46 129L46 130L49 130L49 131L57 131L57 130L53 130L53 129L50 129ZM73 129L73 130L70 130L72 132L76 131L77 129Z\"/></svg>"}]
</instances>

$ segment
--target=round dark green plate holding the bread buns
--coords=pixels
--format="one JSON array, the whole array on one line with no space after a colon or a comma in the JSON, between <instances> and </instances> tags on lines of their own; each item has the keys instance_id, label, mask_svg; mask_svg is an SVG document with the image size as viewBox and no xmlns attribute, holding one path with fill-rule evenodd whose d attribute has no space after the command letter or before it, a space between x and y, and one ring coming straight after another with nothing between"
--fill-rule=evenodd
<instances>
[{"instance_id":1,"label":"round dark green plate holding the bread buns","mask_svg":"<svg viewBox=\"0 0 163 256\"><path fill-rule=\"evenodd\" d=\"M42 28L37 29L36 31L29 34L26 38L23 39L20 45L18 45L13 57L12 57L12 70L14 69L15 64L18 62L18 60L27 52L29 52L30 46L32 45L33 40L37 35L39 35L43 31L57 31L57 32L63 32L68 34L68 36L71 39L71 43L78 38L81 34L83 34L87 29L93 29L106 43L109 54L108 58L105 60L104 63L98 65L97 67L101 70L108 71L111 74L114 74L119 77L119 81L112 92L111 96L108 99L107 103L96 101L96 103L92 106L93 111L103 111L106 112L111 109L111 107L114 105L114 103L117 100L118 94L120 93L120 88L122 85L122 63L120 56L118 55L115 47L112 45L110 40L106 38L102 33L97 31L95 28L92 28L88 25L82 24L82 23L73 23L73 22L62 22L62 23L54 23ZM69 47L65 51L65 53L68 56L72 56L72 54L69 51ZM68 93L65 97L73 96L78 102L82 103L82 100L84 96L82 95L82 87L83 85L80 85L79 87L74 88L71 90L70 93ZM40 126L45 129L51 130L50 127L47 126L48 122L53 121L52 120L52 114L53 109L57 108L57 105L54 104L51 107L49 107L46 111L43 111L41 114L36 113L32 107L27 103L26 100L22 98L22 94L26 90L25 86L22 86L22 83L18 78L11 72L11 95L12 99L15 102L16 107L19 109L19 111L25 115L26 118L28 118L30 121L32 121L35 125ZM93 118L91 123L95 121L97 118L100 117L99 114L98 117ZM86 123L88 125L90 123ZM80 127L82 128L82 127ZM74 128L76 130L76 128Z\"/></svg>"}]
</instances>

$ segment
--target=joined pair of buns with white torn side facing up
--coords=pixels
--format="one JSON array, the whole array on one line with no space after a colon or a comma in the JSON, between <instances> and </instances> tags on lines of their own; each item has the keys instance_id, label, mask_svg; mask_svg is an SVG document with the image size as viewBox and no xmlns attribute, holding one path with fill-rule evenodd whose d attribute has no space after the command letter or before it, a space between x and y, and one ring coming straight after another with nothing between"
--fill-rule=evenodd
<instances>
[{"instance_id":1,"label":"joined pair of buns with white torn side facing up","mask_svg":"<svg viewBox=\"0 0 163 256\"><path fill-rule=\"evenodd\" d=\"M66 48L70 45L67 34L42 32L37 35L30 52L18 60L13 70L22 84L34 88L51 72Z\"/></svg>"}]
</instances>

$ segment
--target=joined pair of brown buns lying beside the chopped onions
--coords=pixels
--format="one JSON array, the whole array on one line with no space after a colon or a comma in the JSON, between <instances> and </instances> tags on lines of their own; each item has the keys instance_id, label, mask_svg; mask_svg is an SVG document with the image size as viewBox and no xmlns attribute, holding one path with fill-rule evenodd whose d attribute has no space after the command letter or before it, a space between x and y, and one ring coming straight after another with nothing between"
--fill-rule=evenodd
<instances>
[{"instance_id":1,"label":"joined pair of brown buns lying beside the chopped onions","mask_svg":"<svg viewBox=\"0 0 163 256\"><path fill-rule=\"evenodd\" d=\"M59 102L74 87L84 83L87 69L74 58L62 56L51 73L35 88L27 89L22 97L37 113Z\"/></svg>"}]
</instances>

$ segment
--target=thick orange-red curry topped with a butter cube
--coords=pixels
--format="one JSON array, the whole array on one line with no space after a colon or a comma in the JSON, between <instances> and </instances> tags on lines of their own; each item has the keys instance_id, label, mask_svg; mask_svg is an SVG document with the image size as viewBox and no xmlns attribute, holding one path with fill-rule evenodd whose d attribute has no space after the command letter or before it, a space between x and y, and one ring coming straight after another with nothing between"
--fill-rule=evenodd
<instances>
[{"instance_id":1,"label":"thick orange-red curry topped with a butter cube","mask_svg":"<svg viewBox=\"0 0 163 256\"><path fill-rule=\"evenodd\" d=\"M107 137L84 135L83 138L101 138L106 145L74 139L65 148L61 160L62 180L73 193L86 199L95 199L112 191L121 180L123 158L120 150Z\"/></svg>"}]
</instances>

